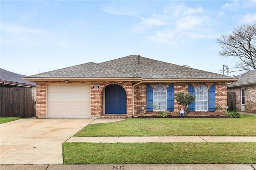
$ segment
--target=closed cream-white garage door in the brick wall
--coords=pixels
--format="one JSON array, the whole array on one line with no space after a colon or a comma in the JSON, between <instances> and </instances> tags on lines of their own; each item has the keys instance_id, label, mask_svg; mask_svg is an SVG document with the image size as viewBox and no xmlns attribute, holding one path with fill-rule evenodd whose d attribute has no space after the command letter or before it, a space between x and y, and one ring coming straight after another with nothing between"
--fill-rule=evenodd
<instances>
[{"instance_id":1,"label":"closed cream-white garage door in the brick wall","mask_svg":"<svg viewBox=\"0 0 256 170\"><path fill-rule=\"evenodd\" d=\"M90 85L48 85L49 118L90 118Z\"/></svg>"}]
</instances>

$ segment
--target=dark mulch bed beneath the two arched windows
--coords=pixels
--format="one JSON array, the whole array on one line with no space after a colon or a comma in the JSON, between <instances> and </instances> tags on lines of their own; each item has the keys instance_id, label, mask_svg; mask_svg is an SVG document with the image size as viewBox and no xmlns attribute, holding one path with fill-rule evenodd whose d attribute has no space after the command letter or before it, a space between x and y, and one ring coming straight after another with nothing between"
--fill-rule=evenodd
<instances>
[{"instance_id":1,"label":"dark mulch bed beneath the two arched windows","mask_svg":"<svg viewBox=\"0 0 256 170\"><path fill-rule=\"evenodd\" d=\"M161 117L161 116L139 116L138 118L228 118L224 115L188 115L188 116L179 116L179 115L170 115L166 117Z\"/></svg>"}]
</instances>

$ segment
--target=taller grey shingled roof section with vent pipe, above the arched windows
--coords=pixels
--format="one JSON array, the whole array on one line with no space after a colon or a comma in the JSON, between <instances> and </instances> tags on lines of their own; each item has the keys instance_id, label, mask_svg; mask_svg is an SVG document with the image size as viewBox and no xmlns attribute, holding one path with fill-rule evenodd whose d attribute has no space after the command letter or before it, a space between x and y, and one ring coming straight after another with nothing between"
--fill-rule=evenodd
<instances>
[{"instance_id":1,"label":"taller grey shingled roof section with vent pipe, above the arched windows","mask_svg":"<svg viewBox=\"0 0 256 170\"><path fill-rule=\"evenodd\" d=\"M208 71L192 69L180 65L166 63L146 57L130 55L111 61L99 63L105 67L111 67L115 70L122 70L126 73L133 73L143 79L232 79Z\"/></svg>"}]
</instances>

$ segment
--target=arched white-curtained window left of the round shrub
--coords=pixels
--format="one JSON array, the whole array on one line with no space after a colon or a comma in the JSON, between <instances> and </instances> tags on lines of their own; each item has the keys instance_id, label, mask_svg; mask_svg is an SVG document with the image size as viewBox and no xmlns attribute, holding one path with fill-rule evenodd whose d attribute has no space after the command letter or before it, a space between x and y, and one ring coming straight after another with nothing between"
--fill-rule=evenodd
<instances>
[{"instance_id":1,"label":"arched white-curtained window left of the round shrub","mask_svg":"<svg viewBox=\"0 0 256 170\"><path fill-rule=\"evenodd\" d=\"M153 93L154 111L166 111L167 90L163 85L157 85Z\"/></svg>"}]
</instances>

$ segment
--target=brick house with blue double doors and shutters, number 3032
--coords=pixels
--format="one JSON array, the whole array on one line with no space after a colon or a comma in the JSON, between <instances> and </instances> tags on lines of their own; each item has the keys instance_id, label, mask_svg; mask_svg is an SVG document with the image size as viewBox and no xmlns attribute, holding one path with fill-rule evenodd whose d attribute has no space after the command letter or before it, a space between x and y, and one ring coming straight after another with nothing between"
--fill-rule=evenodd
<instances>
[{"instance_id":1,"label":"brick house with blue double doors and shutters, number 3032","mask_svg":"<svg viewBox=\"0 0 256 170\"><path fill-rule=\"evenodd\" d=\"M85 63L23 78L36 82L38 118L125 118L179 115L174 94L196 95L191 115L216 115L226 106L226 82L234 77L174 65L140 55Z\"/></svg>"}]
</instances>

